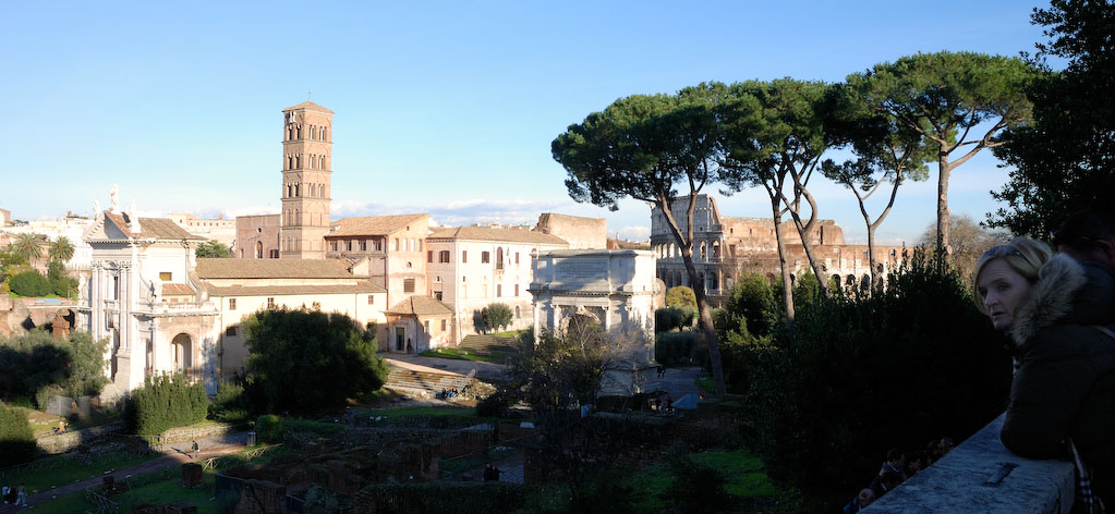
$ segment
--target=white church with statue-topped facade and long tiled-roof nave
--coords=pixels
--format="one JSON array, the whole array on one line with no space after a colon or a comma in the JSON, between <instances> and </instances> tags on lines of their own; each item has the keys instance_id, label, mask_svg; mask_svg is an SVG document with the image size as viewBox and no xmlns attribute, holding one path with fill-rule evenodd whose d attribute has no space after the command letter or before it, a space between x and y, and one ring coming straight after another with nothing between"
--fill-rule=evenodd
<instances>
[{"instance_id":1,"label":"white church with statue-topped facade and long tiled-roof nave","mask_svg":"<svg viewBox=\"0 0 1115 514\"><path fill-rule=\"evenodd\" d=\"M241 321L261 309L340 312L362 327L387 321L387 291L352 275L343 261L196 259L203 237L115 204L85 240L93 271L79 288L77 328L112 341L109 398L162 372L186 374L215 392L221 378L243 369Z\"/></svg>"}]
</instances>

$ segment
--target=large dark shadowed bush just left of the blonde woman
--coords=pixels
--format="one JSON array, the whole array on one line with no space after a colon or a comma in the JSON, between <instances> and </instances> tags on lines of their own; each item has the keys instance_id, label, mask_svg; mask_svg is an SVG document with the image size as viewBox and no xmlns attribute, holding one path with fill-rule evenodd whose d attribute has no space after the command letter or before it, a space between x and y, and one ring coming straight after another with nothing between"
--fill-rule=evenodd
<instances>
[{"instance_id":1,"label":"large dark shadowed bush just left of the blonde woman","mask_svg":"<svg viewBox=\"0 0 1115 514\"><path fill-rule=\"evenodd\" d=\"M752 350L745 425L773 478L838 505L888 448L959 440L1001 413L1004 338L947 269L914 255L886 289L820 299Z\"/></svg>"}]
</instances>

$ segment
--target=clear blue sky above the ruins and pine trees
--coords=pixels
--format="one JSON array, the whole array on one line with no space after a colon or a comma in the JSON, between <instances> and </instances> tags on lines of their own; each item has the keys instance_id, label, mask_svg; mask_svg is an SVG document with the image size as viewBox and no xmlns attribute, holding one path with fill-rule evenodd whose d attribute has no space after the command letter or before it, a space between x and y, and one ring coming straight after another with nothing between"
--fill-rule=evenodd
<instances>
[{"instance_id":1,"label":"clear blue sky above the ruins and pine trees","mask_svg":"<svg viewBox=\"0 0 1115 514\"><path fill-rule=\"evenodd\" d=\"M430 212L440 223L607 216L649 232L649 208L575 204L550 143L632 94L704 80L826 81L918 51L1016 56L1040 29L1030 1L938 2L7 2L0 8L0 207L89 213L119 184L154 215L279 211L281 110L333 118L332 213ZM958 168L954 213L982 220L1007 172ZM851 193L818 212L863 237ZM879 235L914 241L935 172ZM766 216L765 194L718 200Z\"/></svg>"}]
</instances>

